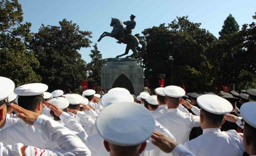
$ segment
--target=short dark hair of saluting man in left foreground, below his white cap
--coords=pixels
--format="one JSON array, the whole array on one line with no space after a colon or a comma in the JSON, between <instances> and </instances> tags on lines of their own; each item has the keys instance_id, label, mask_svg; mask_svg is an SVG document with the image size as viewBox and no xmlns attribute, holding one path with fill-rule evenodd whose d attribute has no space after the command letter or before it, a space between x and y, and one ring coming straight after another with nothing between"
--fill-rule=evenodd
<instances>
[{"instance_id":1,"label":"short dark hair of saluting man in left foreground, below his white cap","mask_svg":"<svg viewBox=\"0 0 256 156\"><path fill-rule=\"evenodd\" d=\"M44 98L41 95L18 96L18 105L26 110L35 111L38 107L38 104L43 100Z\"/></svg>"}]
</instances>

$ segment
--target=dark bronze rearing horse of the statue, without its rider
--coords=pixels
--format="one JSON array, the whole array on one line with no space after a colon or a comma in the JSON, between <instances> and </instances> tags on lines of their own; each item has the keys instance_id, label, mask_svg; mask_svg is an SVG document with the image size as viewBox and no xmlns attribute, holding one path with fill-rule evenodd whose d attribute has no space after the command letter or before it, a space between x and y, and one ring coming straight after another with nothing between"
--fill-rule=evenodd
<instances>
[{"instance_id":1,"label":"dark bronze rearing horse of the statue, without its rider","mask_svg":"<svg viewBox=\"0 0 256 156\"><path fill-rule=\"evenodd\" d=\"M100 40L105 37L105 36L109 36L109 37L113 37L119 41L121 41L121 43L126 44L126 49L125 49L125 53L121 54L121 55L117 55L116 58L119 58L121 56L127 55L129 53L129 50L131 49L133 54L130 56L126 56L127 58L140 58L141 56L144 55L145 50L146 50L146 41L142 41L135 37L134 35L130 35L130 34L126 34L124 35L124 39L120 39L121 38L121 30L123 29L123 22L117 18L112 18L111 20L111 24L110 26L113 26L113 30L111 31L111 33L108 32L104 32L102 35L100 35L100 38L98 39L98 42L100 42ZM137 51L136 51L136 47L139 45L139 43L142 45L142 49L141 49L141 53L139 55L137 55Z\"/></svg>"}]
</instances>

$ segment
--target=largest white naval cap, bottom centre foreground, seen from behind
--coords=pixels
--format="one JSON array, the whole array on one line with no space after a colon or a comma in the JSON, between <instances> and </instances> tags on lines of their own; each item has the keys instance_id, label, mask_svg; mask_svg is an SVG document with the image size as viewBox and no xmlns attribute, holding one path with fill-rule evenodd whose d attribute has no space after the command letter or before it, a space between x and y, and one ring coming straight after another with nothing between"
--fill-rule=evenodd
<instances>
[{"instance_id":1,"label":"largest white naval cap, bottom centre foreground, seen from behind","mask_svg":"<svg viewBox=\"0 0 256 156\"><path fill-rule=\"evenodd\" d=\"M133 102L119 102L106 107L95 125L104 140L119 146L144 143L156 126L148 109Z\"/></svg>"}]
</instances>

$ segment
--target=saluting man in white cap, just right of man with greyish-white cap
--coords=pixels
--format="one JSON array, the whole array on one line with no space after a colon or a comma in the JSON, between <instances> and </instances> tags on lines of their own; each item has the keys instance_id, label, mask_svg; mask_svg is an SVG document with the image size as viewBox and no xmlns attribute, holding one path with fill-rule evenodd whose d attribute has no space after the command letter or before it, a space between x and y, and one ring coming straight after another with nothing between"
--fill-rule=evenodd
<instances>
[{"instance_id":1,"label":"saluting man in white cap, just right of man with greyish-white cap","mask_svg":"<svg viewBox=\"0 0 256 156\"><path fill-rule=\"evenodd\" d=\"M84 112L80 110L80 104L84 101L84 98L79 94L69 94L66 96L66 99L69 101L68 109L73 111L69 111L68 114L77 119L77 121L84 127L84 130L89 135L91 134L92 127L94 125L94 120L90 115L84 114ZM87 129L90 126L91 128Z\"/></svg>"}]
</instances>

